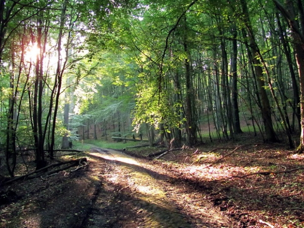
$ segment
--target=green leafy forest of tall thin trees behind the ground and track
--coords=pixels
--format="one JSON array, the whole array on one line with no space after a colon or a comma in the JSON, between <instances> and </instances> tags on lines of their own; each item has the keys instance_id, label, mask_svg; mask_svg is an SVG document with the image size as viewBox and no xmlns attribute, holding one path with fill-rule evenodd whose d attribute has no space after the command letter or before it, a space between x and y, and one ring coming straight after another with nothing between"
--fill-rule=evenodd
<instances>
[{"instance_id":1,"label":"green leafy forest of tall thin trees behind the ground and track","mask_svg":"<svg viewBox=\"0 0 304 228\"><path fill-rule=\"evenodd\" d=\"M304 2L0 0L0 97L0 188L100 140L302 156Z\"/></svg>"}]
</instances>

